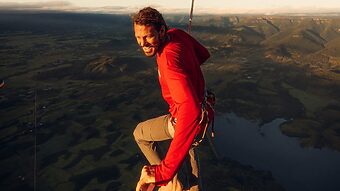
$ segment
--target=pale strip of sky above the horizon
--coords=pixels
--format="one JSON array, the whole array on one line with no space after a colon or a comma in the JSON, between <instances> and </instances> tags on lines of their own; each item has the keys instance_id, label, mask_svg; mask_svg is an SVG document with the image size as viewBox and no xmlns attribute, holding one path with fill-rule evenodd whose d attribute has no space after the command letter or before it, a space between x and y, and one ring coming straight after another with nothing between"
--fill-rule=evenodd
<instances>
[{"instance_id":1,"label":"pale strip of sky above the horizon","mask_svg":"<svg viewBox=\"0 0 340 191\"><path fill-rule=\"evenodd\" d=\"M161 12L188 12L191 0L0 0L1 9L135 12L153 6ZM196 13L340 12L340 0L195 0Z\"/></svg>"}]
</instances>

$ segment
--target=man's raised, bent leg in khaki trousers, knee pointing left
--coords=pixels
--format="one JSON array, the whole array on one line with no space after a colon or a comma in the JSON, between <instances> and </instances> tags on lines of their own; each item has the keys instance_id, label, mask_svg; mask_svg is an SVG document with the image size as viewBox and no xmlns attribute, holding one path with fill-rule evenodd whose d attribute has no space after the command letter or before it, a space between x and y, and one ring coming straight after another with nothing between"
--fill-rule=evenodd
<instances>
[{"instance_id":1,"label":"man's raised, bent leg in khaki trousers, knee pointing left","mask_svg":"<svg viewBox=\"0 0 340 191\"><path fill-rule=\"evenodd\" d=\"M172 138L168 130L168 121L169 115L149 119L139 123L133 132L139 148L151 165L161 162L155 141Z\"/></svg>"}]
</instances>

